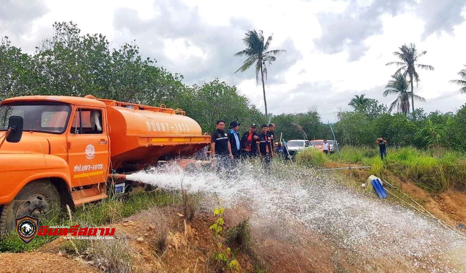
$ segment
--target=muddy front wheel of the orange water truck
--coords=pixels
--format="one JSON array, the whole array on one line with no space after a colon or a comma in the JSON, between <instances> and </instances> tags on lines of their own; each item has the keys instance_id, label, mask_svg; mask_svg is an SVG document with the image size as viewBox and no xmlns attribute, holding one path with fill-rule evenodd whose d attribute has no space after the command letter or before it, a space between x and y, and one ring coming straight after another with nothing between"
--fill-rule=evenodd
<instances>
[{"instance_id":1,"label":"muddy front wheel of the orange water truck","mask_svg":"<svg viewBox=\"0 0 466 273\"><path fill-rule=\"evenodd\" d=\"M48 180L32 181L24 186L13 201L3 207L0 215L0 233L15 229L15 219L29 215L51 220L60 208L60 196ZM41 224L41 223L39 223Z\"/></svg>"}]
</instances>

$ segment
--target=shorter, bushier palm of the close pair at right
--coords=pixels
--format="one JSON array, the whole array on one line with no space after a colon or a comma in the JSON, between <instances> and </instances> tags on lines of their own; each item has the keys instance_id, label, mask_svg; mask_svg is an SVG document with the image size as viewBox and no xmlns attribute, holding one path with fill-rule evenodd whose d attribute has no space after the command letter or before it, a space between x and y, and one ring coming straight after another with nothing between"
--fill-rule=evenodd
<instances>
[{"instance_id":1,"label":"shorter, bushier palm of the close pair at right","mask_svg":"<svg viewBox=\"0 0 466 273\"><path fill-rule=\"evenodd\" d=\"M389 80L388 84L385 86L385 91L383 93L384 97L388 95L397 95L397 99L393 101L390 105L388 111L392 111L397 107L397 111L408 115L409 113L409 100L413 97L412 93L408 91L409 81L406 80L402 74L397 73L391 76L393 80ZM414 100L425 102L425 99L421 96L414 95Z\"/></svg>"}]
</instances>

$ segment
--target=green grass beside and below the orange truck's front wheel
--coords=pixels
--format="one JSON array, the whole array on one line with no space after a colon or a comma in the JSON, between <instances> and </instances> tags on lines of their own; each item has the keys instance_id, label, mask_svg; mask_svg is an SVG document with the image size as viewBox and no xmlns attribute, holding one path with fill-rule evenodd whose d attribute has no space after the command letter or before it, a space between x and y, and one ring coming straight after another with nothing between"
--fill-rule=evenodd
<instances>
[{"instance_id":1,"label":"green grass beside and below the orange truck's front wheel","mask_svg":"<svg viewBox=\"0 0 466 273\"><path fill-rule=\"evenodd\" d=\"M141 192L129 197L118 196L77 207L73 220L69 220L69 216L63 214L60 219L57 218L48 222L41 221L40 224L42 226L73 226L79 223L82 226L82 223L85 223L84 225L88 227L97 227L121 220L153 206L166 206L179 202L180 194L177 191ZM25 244L18 234L13 231L0 237L0 252L33 251L55 239L55 237L35 236L29 244ZM64 247L70 248L71 246Z\"/></svg>"}]
</instances>

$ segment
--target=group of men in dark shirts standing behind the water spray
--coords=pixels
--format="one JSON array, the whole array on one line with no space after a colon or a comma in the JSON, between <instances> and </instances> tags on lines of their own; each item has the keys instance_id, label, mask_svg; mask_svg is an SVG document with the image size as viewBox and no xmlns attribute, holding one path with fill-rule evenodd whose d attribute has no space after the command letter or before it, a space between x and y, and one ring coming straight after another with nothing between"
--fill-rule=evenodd
<instances>
[{"instance_id":1,"label":"group of men in dark shirts standing behind the water spray","mask_svg":"<svg viewBox=\"0 0 466 273\"><path fill-rule=\"evenodd\" d=\"M222 168L227 170L238 166L240 160L260 157L264 168L270 166L270 161L275 152L275 125L263 124L260 133L256 133L257 126L253 123L249 131L242 137L239 135L240 123L233 120L230 122L230 129L225 130L225 121L217 121L217 130L212 132L211 138L211 159L217 163L217 171Z\"/></svg>"}]
</instances>

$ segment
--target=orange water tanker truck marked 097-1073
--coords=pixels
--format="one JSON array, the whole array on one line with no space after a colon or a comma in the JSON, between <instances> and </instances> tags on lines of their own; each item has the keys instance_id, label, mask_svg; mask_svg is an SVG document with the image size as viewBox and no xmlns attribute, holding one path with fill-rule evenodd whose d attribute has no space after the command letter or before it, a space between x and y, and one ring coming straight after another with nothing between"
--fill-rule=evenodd
<instances>
[{"instance_id":1,"label":"orange water tanker truck marked 097-1073","mask_svg":"<svg viewBox=\"0 0 466 273\"><path fill-rule=\"evenodd\" d=\"M124 173L189 156L210 142L181 109L70 96L0 103L0 232L146 185Z\"/></svg>"}]
</instances>

